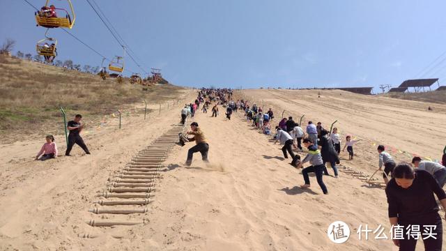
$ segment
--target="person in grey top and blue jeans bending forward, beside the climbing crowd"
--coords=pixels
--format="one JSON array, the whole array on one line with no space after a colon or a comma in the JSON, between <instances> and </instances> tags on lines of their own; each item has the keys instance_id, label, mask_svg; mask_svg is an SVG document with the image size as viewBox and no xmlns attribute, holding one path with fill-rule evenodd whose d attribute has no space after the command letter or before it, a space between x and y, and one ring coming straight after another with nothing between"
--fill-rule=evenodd
<instances>
[{"instance_id":1,"label":"person in grey top and blue jeans bending forward, beside the climbing crowd","mask_svg":"<svg viewBox=\"0 0 446 251\"><path fill-rule=\"evenodd\" d=\"M305 167L302 170L305 185L301 185L300 188L309 188L310 184L308 174L314 172L314 174L316 174L316 181L318 181L323 194L328 195L327 187L323 183L323 172L325 170L325 165L323 165L321 151L319 151L318 147L313 144L312 139L304 139L303 143L304 146L308 149L308 155L305 156L305 158L302 160L302 162L300 162L297 168L302 167L305 162L309 162L311 166Z\"/></svg>"}]
</instances>

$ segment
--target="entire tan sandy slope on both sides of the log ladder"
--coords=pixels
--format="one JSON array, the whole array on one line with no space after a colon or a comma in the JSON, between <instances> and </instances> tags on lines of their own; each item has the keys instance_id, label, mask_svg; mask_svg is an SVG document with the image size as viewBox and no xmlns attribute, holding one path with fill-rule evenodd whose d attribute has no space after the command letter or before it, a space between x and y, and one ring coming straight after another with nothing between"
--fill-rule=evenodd
<instances>
[{"instance_id":1,"label":"entire tan sandy slope on both sides of the log ladder","mask_svg":"<svg viewBox=\"0 0 446 251\"><path fill-rule=\"evenodd\" d=\"M338 119L342 135L348 132L365 139L355 148L357 158L344 163L366 172L376 168L372 142L420 155L439 155L443 149L446 106L436 105L436 112L428 113L426 103L340 91L323 92L320 99L315 91L244 93L259 103L263 100L276 116L287 109L294 116L305 113L323 124ZM189 98L192 100L192 95ZM205 165L195 155L192 167L185 168L187 149L193 143L176 146L150 211L129 216L145 218L148 223L112 229L84 224L91 217L86 209L93 195L105 187L109 175L167 130L170 123L177 122L178 114L179 107L172 114L153 119L153 123L135 121L121 132L110 129L91 135L87 142L95 154L81 156L77 149L74 158L61 158L49 166L29 159L41 142L1 146L0 249L396 250L391 241L359 241L355 234L360 224L387 228L382 189L368 188L342 173L339 179L324 177L330 195L322 194L314 177L312 188L297 188L303 183L300 171L282 160L280 146L253 130L241 112L231 121L226 121L223 113L217 118L197 114L194 120L210 142L211 163ZM431 137L431 132L438 137ZM9 161L11 156L18 159ZM405 154L396 156L408 160ZM335 220L352 227L346 244L335 245L326 236L328 225ZM101 236L83 239L77 237L79 233Z\"/></svg>"}]
</instances>

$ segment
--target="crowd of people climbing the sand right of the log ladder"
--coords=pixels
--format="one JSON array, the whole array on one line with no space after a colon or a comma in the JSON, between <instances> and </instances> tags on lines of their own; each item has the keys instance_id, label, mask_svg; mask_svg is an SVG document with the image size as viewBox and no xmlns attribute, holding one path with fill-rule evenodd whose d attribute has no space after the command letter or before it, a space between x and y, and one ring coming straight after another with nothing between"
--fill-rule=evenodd
<instances>
[{"instance_id":1,"label":"crowd of people climbing the sand right of the log ladder","mask_svg":"<svg viewBox=\"0 0 446 251\"><path fill-rule=\"evenodd\" d=\"M217 95L215 95L218 93ZM272 126L274 120L274 113L269 108L268 111L263 111L263 107L256 104L249 105L247 100L232 100L231 91L202 89L199 91L199 102L204 102L213 105L213 116L218 115L218 105L226 107L226 119L231 119L232 112L237 112L239 109L245 112L246 121L252 124L253 127L265 135L270 135L275 139L275 144L280 142L283 145L282 153L285 159L291 158L291 165L301 169L304 184L300 187L306 189L310 187L309 173L314 173L316 181L321 187L323 194L328 194L328 188L323 182L323 176L328 176L328 165L333 170L335 178L339 178L337 165L340 164L341 152L347 151L348 160L353 160L355 152L353 146L362 139L352 139L351 135L345 135L344 147L341 150L342 137L339 135L338 128L330 128L326 130L323 128L321 122L314 124L308 121L305 128L300 123L296 123L292 116L282 118L277 121L277 126ZM202 100L200 100L200 97ZM216 97L211 99L210 97ZM187 107L187 106L186 106ZM272 131L274 127L274 132ZM197 130L198 124L192 123L192 131L188 134L194 135L192 140L202 142L203 132ZM208 161L208 144L205 147L192 147L187 155L186 165L190 165L192 154L201 151L203 160ZM305 147L304 148L302 147ZM386 185L385 193L387 196L388 215L390 224L392 226L401 225L403 227L410 227L411 225L419 225L420 227L435 226L433 234L438 238L424 239L426 250L441 250L443 243L443 225L438 214L439 206L434 195L437 196L438 201L446 208L446 194L443 186L446 183L446 147L443 150L442 162L433 162L429 160L422 160L415 156L411 165L408 163L397 162L392 158L392 155L386 151L385 146L378 145L376 148L378 153L378 169L383 172L383 180ZM300 154L304 154L302 159ZM303 167L306 163L309 166ZM403 238L394 239L394 244L399 246L400 250L415 250L416 241L410 238L408 232L403 234Z\"/></svg>"}]
</instances>

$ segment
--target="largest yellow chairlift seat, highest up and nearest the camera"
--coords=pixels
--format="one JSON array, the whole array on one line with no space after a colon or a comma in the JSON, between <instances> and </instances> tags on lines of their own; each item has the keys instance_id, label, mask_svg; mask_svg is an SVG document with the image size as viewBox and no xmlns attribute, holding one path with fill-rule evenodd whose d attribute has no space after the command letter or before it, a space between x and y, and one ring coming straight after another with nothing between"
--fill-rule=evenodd
<instances>
[{"instance_id":1,"label":"largest yellow chairlift seat, highest up and nearest the camera","mask_svg":"<svg viewBox=\"0 0 446 251\"><path fill-rule=\"evenodd\" d=\"M72 26L75 24L76 15L75 10L72 8L72 3L70 0L68 1L68 5L70 6L72 18L68 11L63 8L56 8L56 10L63 10L66 13L66 17L49 17L47 13L43 13L43 11L37 11L34 13L36 16L36 22L38 26L43 26L45 28L59 28L64 27L71 29ZM49 0L45 3L45 7L49 8L48 6Z\"/></svg>"}]
</instances>

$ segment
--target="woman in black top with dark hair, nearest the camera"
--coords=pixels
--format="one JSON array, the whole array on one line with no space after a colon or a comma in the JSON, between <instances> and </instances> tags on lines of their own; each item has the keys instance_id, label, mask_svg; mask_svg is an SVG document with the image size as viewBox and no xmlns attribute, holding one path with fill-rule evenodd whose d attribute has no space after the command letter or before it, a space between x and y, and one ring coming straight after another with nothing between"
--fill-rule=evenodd
<instances>
[{"instance_id":1,"label":"woman in black top with dark hair, nearest the camera","mask_svg":"<svg viewBox=\"0 0 446 251\"><path fill-rule=\"evenodd\" d=\"M406 163L394 168L385 194L389 204L390 225L394 231L393 242L400 251L415 250L418 238L423 240L424 250L441 250L443 224L434 193L443 208L446 208L445 191L429 172L414 171Z\"/></svg>"}]
</instances>

